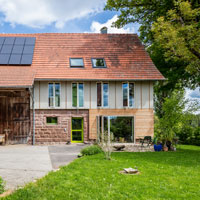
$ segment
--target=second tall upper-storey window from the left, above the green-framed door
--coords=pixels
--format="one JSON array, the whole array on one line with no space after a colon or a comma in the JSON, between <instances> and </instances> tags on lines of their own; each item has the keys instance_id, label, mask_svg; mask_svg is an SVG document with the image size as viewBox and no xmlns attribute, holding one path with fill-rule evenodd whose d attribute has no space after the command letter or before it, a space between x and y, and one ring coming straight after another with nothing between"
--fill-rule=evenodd
<instances>
[{"instance_id":1,"label":"second tall upper-storey window from the left, above the green-framed door","mask_svg":"<svg viewBox=\"0 0 200 200\"><path fill-rule=\"evenodd\" d=\"M72 106L84 107L84 84L72 83Z\"/></svg>"}]
</instances>

